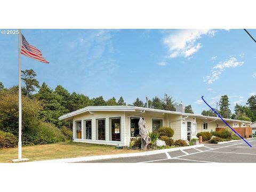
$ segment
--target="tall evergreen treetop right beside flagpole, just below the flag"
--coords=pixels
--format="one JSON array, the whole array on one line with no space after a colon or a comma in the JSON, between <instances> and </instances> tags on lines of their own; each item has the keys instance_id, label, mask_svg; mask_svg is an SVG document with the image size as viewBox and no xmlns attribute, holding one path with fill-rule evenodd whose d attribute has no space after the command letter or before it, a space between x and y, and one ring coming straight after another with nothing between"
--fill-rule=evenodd
<instances>
[{"instance_id":1,"label":"tall evergreen treetop right beside flagpole, just below the flag","mask_svg":"<svg viewBox=\"0 0 256 192\"><path fill-rule=\"evenodd\" d=\"M33 69L26 69L21 71L21 80L25 83L23 92L30 97L36 88L39 88L39 82L36 80L36 73Z\"/></svg>"}]
</instances>

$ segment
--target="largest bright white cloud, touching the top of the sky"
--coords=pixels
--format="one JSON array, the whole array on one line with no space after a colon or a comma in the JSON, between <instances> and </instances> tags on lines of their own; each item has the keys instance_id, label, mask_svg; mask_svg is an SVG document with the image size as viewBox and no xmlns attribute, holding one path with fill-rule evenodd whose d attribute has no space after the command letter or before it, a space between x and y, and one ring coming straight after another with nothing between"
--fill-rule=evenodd
<instances>
[{"instance_id":1,"label":"largest bright white cloud, touching the top of the sky","mask_svg":"<svg viewBox=\"0 0 256 192\"><path fill-rule=\"evenodd\" d=\"M215 30L212 29L181 29L167 36L164 44L169 49L170 58L179 56L188 58L201 49L202 45L197 43L198 39L203 35L214 36L214 34Z\"/></svg>"}]
</instances>

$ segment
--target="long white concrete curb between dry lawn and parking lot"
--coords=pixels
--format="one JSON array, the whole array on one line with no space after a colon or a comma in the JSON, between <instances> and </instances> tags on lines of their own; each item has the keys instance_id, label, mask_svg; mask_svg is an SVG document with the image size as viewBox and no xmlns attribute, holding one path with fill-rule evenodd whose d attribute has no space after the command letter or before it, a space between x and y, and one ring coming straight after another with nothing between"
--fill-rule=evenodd
<instances>
[{"instance_id":1,"label":"long white concrete curb between dry lawn and parking lot","mask_svg":"<svg viewBox=\"0 0 256 192\"><path fill-rule=\"evenodd\" d=\"M156 154L162 154L162 153L178 151L178 150L193 149L198 147L204 147L204 144L186 146L186 147L175 147L170 149L159 149L159 150L145 151L145 152L139 152L139 153L63 158L63 159L52 159L52 160L35 161L35 162L27 162L27 163L76 163L76 162L95 161L95 160L119 158L119 157L137 157L137 156L156 155Z\"/></svg>"}]
</instances>

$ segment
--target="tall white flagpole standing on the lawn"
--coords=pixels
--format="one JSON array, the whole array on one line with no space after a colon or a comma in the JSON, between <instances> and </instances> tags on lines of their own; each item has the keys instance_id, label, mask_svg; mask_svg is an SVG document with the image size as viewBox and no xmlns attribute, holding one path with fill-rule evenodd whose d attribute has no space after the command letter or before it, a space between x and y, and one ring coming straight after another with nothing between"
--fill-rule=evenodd
<instances>
[{"instance_id":1,"label":"tall white flagpole standing on the lawn","mask_svg":"<svg viewBox=\"0 0 256 192\"><path fill-rule=\"evenodd\" d=\"M22 129L22 105L21 105L21 63L20 63L20 52L21 52L21 29L19 29L18 34L19 41L19 142L18 142L18 160L22 160L22 150L21 150L21 129Z\"/></svg>"}]
</instances>

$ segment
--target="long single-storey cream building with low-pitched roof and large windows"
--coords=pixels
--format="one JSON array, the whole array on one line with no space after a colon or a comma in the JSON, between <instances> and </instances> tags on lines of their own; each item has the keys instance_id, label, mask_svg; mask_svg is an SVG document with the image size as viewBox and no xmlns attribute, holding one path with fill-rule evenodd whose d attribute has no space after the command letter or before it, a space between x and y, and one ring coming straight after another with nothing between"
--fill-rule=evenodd
<instances>
[{"instance_id":1,"label":"long single-storey cream building with low-pitched roof and large windows","mask_svg":"<svg viewBox=\"0 0 256 192\"><path fill-rule=\"evenodd\" d=\"M73 121L75 142L115 146L129 146L131 139L138 137L140 117L146 121L149 132L157 131L162 126L172 127L174 140L191 140L196 138L198 132L210 132L215 131L216 127L226 127L219 117L184 113L182 106L177 106L177 110L134 106L92 106L62 115L59 119ZM234 119L225 119L225 121L231 127L246 127L251 124Z\"/></svg>"}]
</instances>

